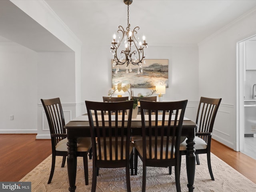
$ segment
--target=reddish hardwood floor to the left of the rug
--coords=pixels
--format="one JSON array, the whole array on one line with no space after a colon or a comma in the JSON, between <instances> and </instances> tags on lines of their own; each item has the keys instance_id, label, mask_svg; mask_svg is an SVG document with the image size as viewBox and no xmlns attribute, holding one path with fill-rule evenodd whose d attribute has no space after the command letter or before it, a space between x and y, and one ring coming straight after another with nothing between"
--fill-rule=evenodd
<instances>
[{"instance_id":1,"label":"reddish hardwood floor to the left of the rug","mask_svg":"<svg viewBox=\"0 0 256 192\"><path fill-rule=\"evenodd\" d=\"M36 134L0 134L0 181L22 179L52 154L51 140L36 140Z\"/></svg>"}]
</instances>

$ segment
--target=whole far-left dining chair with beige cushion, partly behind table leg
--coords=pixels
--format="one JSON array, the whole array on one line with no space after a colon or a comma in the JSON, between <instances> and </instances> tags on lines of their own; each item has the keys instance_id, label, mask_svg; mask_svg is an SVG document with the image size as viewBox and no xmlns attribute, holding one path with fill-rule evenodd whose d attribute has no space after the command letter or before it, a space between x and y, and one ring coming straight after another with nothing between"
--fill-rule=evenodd
<instances>
[{"instance_id":1,"label":"whole far-left dining chair with beige cushion, partly behind table leg","mask_svg":"<svg viewBox=\"0 0 256 192\"><path fill-rule=\"evenodd\" d=\"M62 165L64 167L66 157L68 156L67 134L64 114L60 103L60 98L41 99L44 111L48 120L51 141L52 141L52 168L48 184L51 183L54 174L56 156L63 156ZM77 156L83 157L84 160L84 177L85 184L88 185L88 152L92 147L91 138L77 138Z\"/></svg>"}]
</instances>

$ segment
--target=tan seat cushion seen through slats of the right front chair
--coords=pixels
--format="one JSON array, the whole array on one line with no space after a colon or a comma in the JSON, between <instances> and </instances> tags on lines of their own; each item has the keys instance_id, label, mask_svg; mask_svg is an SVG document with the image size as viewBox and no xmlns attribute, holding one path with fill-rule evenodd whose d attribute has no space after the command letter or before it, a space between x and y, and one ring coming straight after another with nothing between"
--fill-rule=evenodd
<instances>
[{"instance_id":1,"label":"tan seat cushion seen through slats of the right front chair","mask_svg":"<svg viewBox=\"0 0 256 192\"><path fill-rule=\"evenodd\" d=\"M166 139L164 139L164 143L166 143ZM138 153L143 157L143 142L142 140L137 140L136 142L134 142L134 146L135 148L137 149ZM146 140L146 158L149 159L149 140L147 139ZM161 149L161 141L158 140L157 142L157 157L155 157L155 144L154 144L154 140L152 140L152 159L160 159L160 149ZM172 149L172 140L169 141L169 144L168 144L168 159L171 159L171 149ZM165 159L165 151L166 151L166 146L163 147L163 159ZM173 156L172 158L175 158L175 147L174 147L174 150L173 150Z\"/></svg>"}]
</instances>

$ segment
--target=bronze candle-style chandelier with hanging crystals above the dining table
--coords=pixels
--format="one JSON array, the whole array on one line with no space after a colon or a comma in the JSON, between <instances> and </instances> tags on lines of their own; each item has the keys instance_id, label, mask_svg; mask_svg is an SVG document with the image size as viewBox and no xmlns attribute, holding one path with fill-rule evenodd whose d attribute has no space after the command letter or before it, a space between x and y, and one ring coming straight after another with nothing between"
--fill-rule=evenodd
<instances>
[{"instance_id":1,"label":"bronze candle-style chandelier with hanging crystals above the dining table","mask_svg":"<svg viewBox=\"0 0 256 192\"><path fill-rule=\"evenodd\" d=\"M116 67L115 73L118 73L119 67L118 65L126 65L126 73L132 72L131 65L138 65L137 73L140 74L143 72L142 70L142 60L145 58L144 49L148 47L146 43L145 36L142 37L143 42L138 37L138 30L140 29L138 26L134 28L134 30L130 29L129 23L129 5L132 4L132 0L124 0L124 4L127 5L127 27L126 30L122 26L118 28L118 36L116 34L113 35L113 41L111 44L111 52L113 54L113 68ZM117 38L117 39L116 39ZM122 42L124 42L124 50L120 48ZM121 50L121 51L120 51ZM144 60L144 63L146 61Z\"/></svg>"}]
</instances>

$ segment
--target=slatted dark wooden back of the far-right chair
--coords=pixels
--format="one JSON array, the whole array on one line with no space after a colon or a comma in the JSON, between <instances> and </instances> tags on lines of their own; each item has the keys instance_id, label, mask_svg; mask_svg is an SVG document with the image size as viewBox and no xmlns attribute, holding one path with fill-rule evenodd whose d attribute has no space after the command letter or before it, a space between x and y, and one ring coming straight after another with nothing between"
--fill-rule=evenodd
<instances>
[{"instance_id":1,"label":"slatted dark wooden back of the far-right chair","mask_svg":"<svg viewBox=\"0 0 256 192\"><path fill-rule=\"evenodd\" d=\"M196 116L198 130L196 132L212 132L216 114L220 106L221 98L206 98L201 97ZM208 141L208 136L199 136L205 142Z\"/></svg>"}]
</instances>

